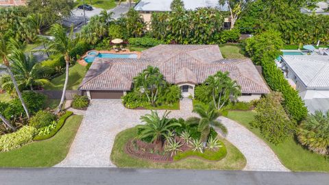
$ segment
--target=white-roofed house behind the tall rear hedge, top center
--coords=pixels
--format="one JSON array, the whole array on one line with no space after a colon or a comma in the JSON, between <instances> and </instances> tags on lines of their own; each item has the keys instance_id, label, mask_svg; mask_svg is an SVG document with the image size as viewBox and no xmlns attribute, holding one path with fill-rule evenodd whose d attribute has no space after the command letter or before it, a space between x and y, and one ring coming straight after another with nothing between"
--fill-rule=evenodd
<instances>
[{"instance_id":1,"label":"white-roofed house behind the tall rear hedge, top center","mask_svg":"<svg viewBox=\"0 0 329 185\"><path fill-rule=\"evenodd\" d=\"M151 22L151 15L154 12L171 12L171 2L173 0L141 0L135 5L144 18L144 21ZM219 8L222 11L228 11L228 5L220 5L218 0L182 0L186 10L195 10L197 8ZM230 29L230 21L228 18L224 21L224 28Z\"/></svg>"}]
</instances>

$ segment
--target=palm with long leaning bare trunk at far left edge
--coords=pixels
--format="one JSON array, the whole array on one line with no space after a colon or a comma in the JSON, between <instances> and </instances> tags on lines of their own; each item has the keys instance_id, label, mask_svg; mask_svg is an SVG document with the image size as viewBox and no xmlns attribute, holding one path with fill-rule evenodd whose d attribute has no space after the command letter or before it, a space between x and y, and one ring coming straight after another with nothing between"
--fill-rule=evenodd
<instances>
[{"instance_id":1,"label":"palm with long leaning bare trunk at far left edge","mask_svg":"<svg viewBox=\"0 0 329 185\"><path fill-rule=\"evenodd\" d=\"M16 82L16 79L14 77L14 74L12 73L12 70L10 68L10 62L9 62L9 55L12 51L12 49L19 49L20 45L19 42L16 42L13 39L5 40L4 36L0 34L0 58L2 58L3 64L5 64L5 68L8 71L8 74L10 75L10 78L12 79L12 84L14 85L14 88L16 90L17 95L19 96L19 99L21 100L22 106L25 110L26 116L29 119L29 111L27 110L27 106L25 105L25 102L23 100L21 91L19 90L19 86Z\"/></svg>"}]
</instances>

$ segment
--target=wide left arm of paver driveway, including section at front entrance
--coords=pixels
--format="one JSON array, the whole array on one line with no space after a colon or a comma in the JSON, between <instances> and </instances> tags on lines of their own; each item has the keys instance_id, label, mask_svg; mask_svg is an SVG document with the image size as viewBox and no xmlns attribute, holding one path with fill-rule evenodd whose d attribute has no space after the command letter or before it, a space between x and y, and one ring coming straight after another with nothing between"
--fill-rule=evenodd
<instances>
[{"instance_id":1,"label":"wide left arm of paver driveway, including section at front entrance","mask_svg":"<svg viewBox=\"0 0 329 185\"><path fill-rule=\"evenodd\" d=\"M169 116L186 119L191 116L192 108L191 99L184 99L180 110L172 110ZM93 99L68 156L56 167L115 167L110 161L115 136L141 124L139 118L149 112L124 108L120 99Z\"/></svg>"}]
</instances>

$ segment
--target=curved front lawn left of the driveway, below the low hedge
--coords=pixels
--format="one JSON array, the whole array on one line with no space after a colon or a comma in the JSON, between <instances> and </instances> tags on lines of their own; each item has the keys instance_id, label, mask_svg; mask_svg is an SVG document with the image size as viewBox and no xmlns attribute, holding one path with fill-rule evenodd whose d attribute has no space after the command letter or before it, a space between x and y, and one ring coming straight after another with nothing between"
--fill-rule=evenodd
<instances>
[{"instance_id":1,"label":"curved front lawn left of the driveway, below the low hedge","mask_svg":"<svg viewBox=\"0 0 329 185\"><path fill-rule=\"evenodd\" d=\"M66 157L83 116L73 115L52 138L0 152L0 167L52 167Z\"/></svg>"}]
</instances>

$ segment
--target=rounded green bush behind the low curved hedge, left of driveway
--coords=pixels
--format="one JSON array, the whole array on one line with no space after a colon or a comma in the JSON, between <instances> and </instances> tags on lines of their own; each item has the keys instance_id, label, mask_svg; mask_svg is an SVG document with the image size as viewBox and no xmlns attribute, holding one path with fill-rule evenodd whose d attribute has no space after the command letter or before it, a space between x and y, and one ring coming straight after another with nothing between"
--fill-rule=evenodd
<instances>
[{"instance_id":1,"label":"rounded green bush behind the low curved hedge, left of driveway","mask_svg":"<svg viewBox=\"0 0 329 185\"><path fill-rule=\"evenodd\" d=\"M56 120L55 114L48 112L46 110L40 110L39 112L36 113L35 116L33 116L29 120L29 125L39 129L41 127L47 127L55 120Z\"/></svg>"}]
</instances>

